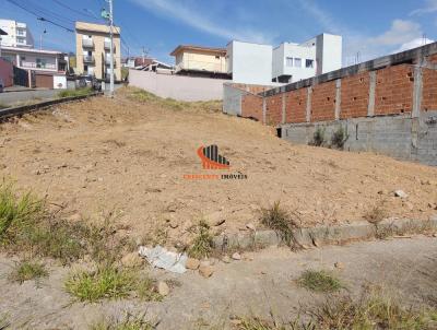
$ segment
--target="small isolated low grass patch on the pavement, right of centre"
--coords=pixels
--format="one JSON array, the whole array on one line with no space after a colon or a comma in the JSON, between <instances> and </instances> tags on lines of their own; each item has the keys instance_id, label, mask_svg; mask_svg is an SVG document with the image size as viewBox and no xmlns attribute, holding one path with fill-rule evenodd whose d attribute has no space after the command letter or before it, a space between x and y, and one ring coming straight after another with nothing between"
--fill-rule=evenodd
<instances>
[{"instance_id":1,"label":"small isolated low grass patch on the pavement, right of centre","mask_svg":"<svg viewBox=\"0 0 437 330\"><path fill-rule=\"evenodd\" d=\"M341 282L327 271L307 270L298 279L300 286L315 292L335 292L342 288Z\"/></svg>"}]
</instances>

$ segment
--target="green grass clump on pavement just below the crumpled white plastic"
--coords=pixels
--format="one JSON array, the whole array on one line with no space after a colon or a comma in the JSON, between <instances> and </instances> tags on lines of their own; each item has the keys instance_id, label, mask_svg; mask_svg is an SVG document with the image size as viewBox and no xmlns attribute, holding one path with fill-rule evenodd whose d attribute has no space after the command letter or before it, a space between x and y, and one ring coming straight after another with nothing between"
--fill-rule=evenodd
<instances>
[{"instance_id":1,"label":"green grass clump on pavement just below the crumpled white plastic","mask_svg":"<svg viewBox=\"0 0 437 330\"><path fill-rule=\"evenodd\" d=\"M161 300L155 282L141 278L132 270L115 266L99 266L96 271L81 271L71 274L66 291L81 302L98 302L129 297L132 293L144 300Z\"/></svg>"}]
</instances>

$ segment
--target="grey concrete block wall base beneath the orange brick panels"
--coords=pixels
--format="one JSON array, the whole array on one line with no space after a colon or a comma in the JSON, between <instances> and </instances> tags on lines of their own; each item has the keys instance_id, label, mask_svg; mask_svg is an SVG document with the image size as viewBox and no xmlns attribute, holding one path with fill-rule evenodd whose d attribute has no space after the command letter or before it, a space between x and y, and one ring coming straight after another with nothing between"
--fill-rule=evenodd
<instances>
[{"instance_id":1,"label":"grey concrete block wall base beneath the orange brick panels","mask_svg":"<svg viewBox=\"0 0 437 330\"><path fill-rule=\"evenodd\" d=\"M309 144L316 130L321 129L324 132L324 145L328 146L340 128L347 135L344 144L346 151L370 151L437 166L437 110L421 113L418 118L403 114L320 123L286 123L282 126L282 138L293 143Z\"/></svg>"}]
</instances>

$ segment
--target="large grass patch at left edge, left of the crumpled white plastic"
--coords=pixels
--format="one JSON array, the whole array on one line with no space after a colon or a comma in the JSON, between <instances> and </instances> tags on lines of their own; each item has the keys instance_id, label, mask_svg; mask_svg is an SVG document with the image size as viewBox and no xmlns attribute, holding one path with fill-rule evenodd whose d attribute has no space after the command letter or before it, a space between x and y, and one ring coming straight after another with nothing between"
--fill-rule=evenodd
<instances>
[{"instance_id":1,"label":"large grass patch at left edge, left of the crumpled white plastic","mask_svg":"<svg viewBox=\"0 0 437 330\"><path fill-rule=\"evenodd\" d=\"M49 257L63 264L90 255L97 263L111 263L127 246L127 238L116 238L115 216L109 212L92 224L71 222L32 192L19 195L11 184L0 185L0 248L8 252Z\"/></svg>"}]
</instances>

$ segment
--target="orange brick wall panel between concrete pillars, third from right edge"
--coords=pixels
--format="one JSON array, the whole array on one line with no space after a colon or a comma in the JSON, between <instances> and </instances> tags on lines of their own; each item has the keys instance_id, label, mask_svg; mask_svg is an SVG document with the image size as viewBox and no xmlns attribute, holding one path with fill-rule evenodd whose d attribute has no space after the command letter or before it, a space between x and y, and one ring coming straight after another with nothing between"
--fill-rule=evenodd
<instances>
[{"instance_id":1,"label":"orange brick wall panel between concrete pillars, third from right edge","mask_svg":"<svg viewBox=\"0 0 437 330\"><path fill-rule=\"evenodd\" d=\"M341 119L367 116L369 85L369 72L363 72L342 79L340 111Z\"/></svg>"}]
</instances>

